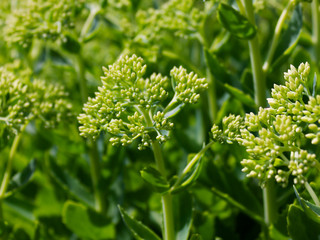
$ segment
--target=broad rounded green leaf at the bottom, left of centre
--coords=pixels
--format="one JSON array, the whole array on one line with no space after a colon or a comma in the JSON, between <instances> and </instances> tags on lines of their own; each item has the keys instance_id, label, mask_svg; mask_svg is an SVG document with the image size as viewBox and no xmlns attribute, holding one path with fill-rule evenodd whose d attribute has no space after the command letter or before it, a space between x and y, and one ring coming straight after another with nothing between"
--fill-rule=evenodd
<instances>
[{"instance_id":1,"label":"broad rounded green leaf at the bottom, left of centre","mask_svg":"<svg viewBox=\"0 0 320 240\"><path fill-rule=\"evenodd\" d=\"M79 237L114 239L114 224L103 215L82 204L67 201L62 212L63 223Z\"/></svg>"}]
</instances>

